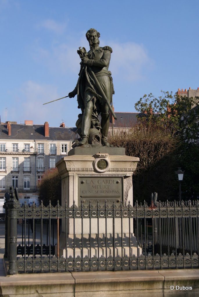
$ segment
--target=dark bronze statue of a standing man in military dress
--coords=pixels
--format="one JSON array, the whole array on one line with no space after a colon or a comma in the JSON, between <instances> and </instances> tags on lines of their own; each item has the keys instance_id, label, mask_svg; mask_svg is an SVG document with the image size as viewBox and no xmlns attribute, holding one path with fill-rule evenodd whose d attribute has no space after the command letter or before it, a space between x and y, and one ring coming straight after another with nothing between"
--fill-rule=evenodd
<instances>
[{"instance_id":1,"label":"dark bronze statue of a standing man in military dress","mask_svg":"<svg viewBox=\"0 0 199 297\"><path fill-rule=\"evenodd\" d=\"M77 85L68 94L70 98L75 97L77 94L78 107L81 108L83 113L82 140L79 145L87 144L91 128L91 118L93 114L97 117L101 113L101 144L103 146L110 146L107 141L110 116L109 106L110 102L112 102L114 90L111 72L108 69L112 48L109 46L100 47L99 37L100 33L95 29L87 31L86 38L89 42L90 50L88 53L85 51L82 57ZM106 101L108 101L109 106Z\"/></svg>"}]
</instances>

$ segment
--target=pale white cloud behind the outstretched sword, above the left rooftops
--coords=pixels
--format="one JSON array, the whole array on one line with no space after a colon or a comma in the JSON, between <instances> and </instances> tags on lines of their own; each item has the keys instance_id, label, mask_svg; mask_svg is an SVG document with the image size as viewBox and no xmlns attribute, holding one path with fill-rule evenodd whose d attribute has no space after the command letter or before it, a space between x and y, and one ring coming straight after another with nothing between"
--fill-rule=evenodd
<instances>
[{"instance_id":1,"label":"pale white cloud behind the outstretched sword, above the left rooftops","mask_svg":"<svg viewBox=\"0 0 199 297\"><path fill-rule=\"evenodd\" d=\"M9 121L17 121L20 124L24 123L24 120L32 120L33 124L37 125L48 121L50 127L59 127L62 119L65 119L66 126L70 127L76 122L79 113L76 98L66 98L43 105L67 95L58 93L56 86L29 80L24 82L20 89L13 90L10 95L14 100L12 105L8 105ZM4 119L5 115L1 121Z\"/></svg>"}]
</instances>

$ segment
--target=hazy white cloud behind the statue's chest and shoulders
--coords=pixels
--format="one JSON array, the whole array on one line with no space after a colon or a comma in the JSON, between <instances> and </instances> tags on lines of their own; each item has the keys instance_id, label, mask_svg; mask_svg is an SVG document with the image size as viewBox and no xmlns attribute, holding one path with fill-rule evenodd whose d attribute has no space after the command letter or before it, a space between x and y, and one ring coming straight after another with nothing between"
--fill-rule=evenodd
<instances>
[{"instance_id":1,"label":"hazy white cloud behind the statue's chest and shoulders","mask_svg":"<svg viewBox=\"0 0 199 297\"><path fill-rule=\"evenodd\" d=\"M145 76L145 70L153 66L153 61L149 58L143 45L135 42L118 43L105 40L100 40L100 45L112 47L110 70L114 77L118 76L121 80L140 80ZM77 50L79 46L84 46L89 50L84 32L76 40L70 39L64 43L54 43L48 50L37 47L35 56L39 62L45 63L52 71L78 74L80 59Z\"/></svg>"}]
</instances>

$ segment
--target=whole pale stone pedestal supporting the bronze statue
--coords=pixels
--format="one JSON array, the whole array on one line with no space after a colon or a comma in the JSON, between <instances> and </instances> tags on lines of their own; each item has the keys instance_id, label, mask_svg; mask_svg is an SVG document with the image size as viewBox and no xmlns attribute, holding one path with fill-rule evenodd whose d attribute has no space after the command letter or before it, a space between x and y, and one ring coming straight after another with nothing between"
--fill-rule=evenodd
<instances>
[{"instance_id":1,"label":"whole pale stone pedestal supporting the bronze statue","mask_svg":"<svg viewBox=\"0 0 199 297\"><path fill-rule=\"evenodd\" d=\"M73 201L76 206L81 206L81 202L85 206L99 205L104 206L105 201L107 206L133 204L133 184L132 175L137 167L139 158L129 157L125 155L124 148L97 147L85 148L76 147L69 151L68 156L57 162L56 166L62 178L62 206L72 206ZM67 234L65 229L65 219L62 219L62 232L59 237L59 255L65 256L65 238L68 236L68 244L71 242L71 255L73 255L73 219L68 219ZM96 236L99 233L100 253L104 255L104 236L105 236L105 218L100 218L100 225L97 227L97 219L90 220L84 218L83 234L85 245L83 254L91 256L96 255L95 242ZM133 220L131 219L131 253L137 255L137 241L133 232ZM91 230L90 230L91 226ZM107 218L107 241L112 240L113 236L113 219ZM82 221L75 220L75 242L76 249L81 255L82 244ZM89 234L91 234L93 242L92 250L87 248ZM123 246L123 254L129 254L129 219L123 219L121 229L121 218L115 218L115 238L117 238L117 251L121 255L121 241L125 242ZM81 243L81 244L80 244ZM68 251L70 251L68 249ZM141 249L139 248L138 255ZM112 248L108 248L108 255L112 254ZM116 252L117 253L117 252ZM77 253L76 253L77 255Z\"/></svg>"}]
</instances>

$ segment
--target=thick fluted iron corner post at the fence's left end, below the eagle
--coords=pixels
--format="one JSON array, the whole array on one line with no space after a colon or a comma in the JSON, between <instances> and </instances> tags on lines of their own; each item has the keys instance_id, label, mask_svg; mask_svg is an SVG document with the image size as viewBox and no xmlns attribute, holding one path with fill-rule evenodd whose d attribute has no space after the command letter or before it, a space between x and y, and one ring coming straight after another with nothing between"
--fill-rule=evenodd
<instances>
[{"instance_id":1,"label":"thick fluted iron corner post at the fence's left end, below the eagle","mask_svg":"<svg viewBox=\"0 0 199 297\"><path fill-rule=\"evenodd\" d=\"M8 209L8 274L18 274L17 269L17 210L20 208L20 203L14 199L9 199L7 202Z\"/></svg>"}]
</instances>

